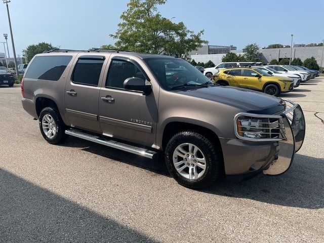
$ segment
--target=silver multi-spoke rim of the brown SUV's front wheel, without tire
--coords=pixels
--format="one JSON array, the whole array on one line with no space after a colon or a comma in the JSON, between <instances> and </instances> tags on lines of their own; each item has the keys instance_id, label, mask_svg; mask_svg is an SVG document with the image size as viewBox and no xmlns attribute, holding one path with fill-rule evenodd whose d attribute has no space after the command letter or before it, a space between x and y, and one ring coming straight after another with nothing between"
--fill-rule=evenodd
<instances>
[{"instance_id":1,"label":"silver multi-spoke rim of the brown SUV's front wheel, without tire","mask_svg":"<svg viewBox=\"0 0 324 243\"><path fill-rule=\"evenodd\" d=\"M206 172L206 157L196 145L182 143L173 152L173 165L182 177L197 180Z\"/></svg>"}]
</instances>

